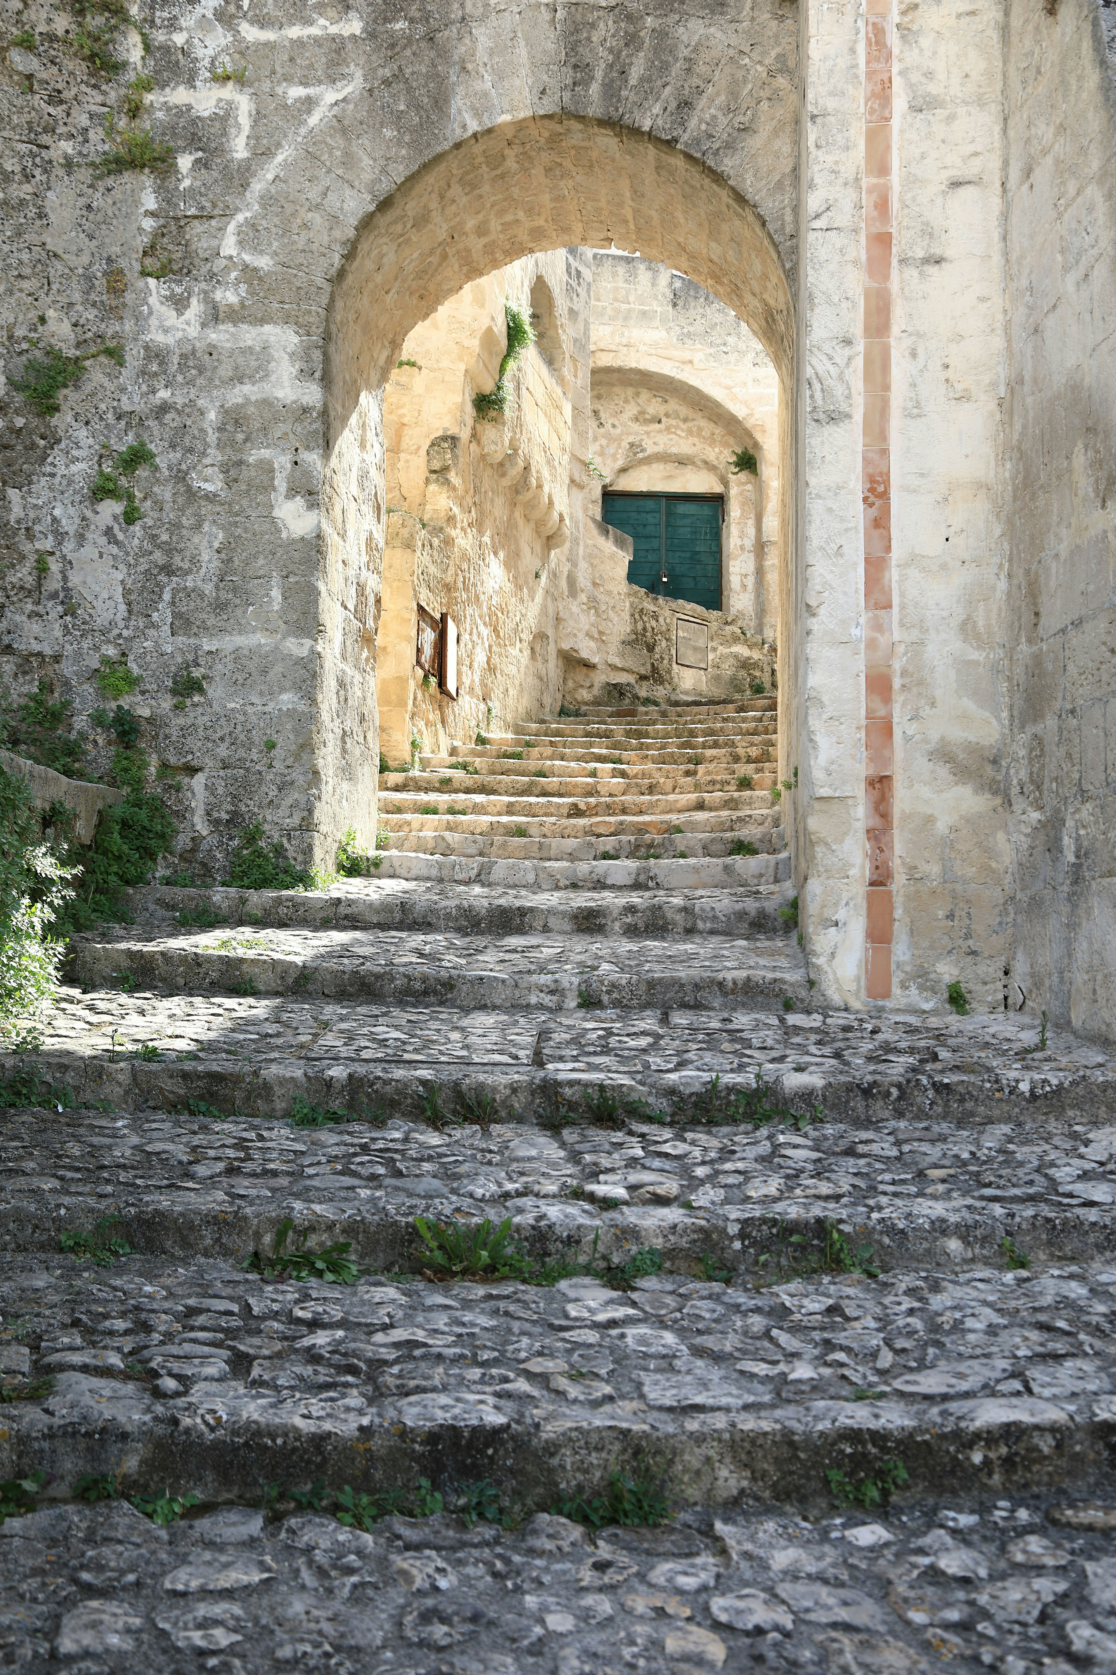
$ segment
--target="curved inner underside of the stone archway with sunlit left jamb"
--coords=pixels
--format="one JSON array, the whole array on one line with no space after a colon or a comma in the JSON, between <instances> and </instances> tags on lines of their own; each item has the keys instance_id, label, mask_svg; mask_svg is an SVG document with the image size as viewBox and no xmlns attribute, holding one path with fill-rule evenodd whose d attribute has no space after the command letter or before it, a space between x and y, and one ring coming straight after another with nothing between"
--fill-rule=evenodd
<instances>
[{"instance_id":1,"label":"curved inner underside of the stone archway with sunlit left jamb","mask_svg":"<svg viewBox=\"0 0 1116 1675\"><path fill-rule=\"evenodd\" d=\"M356 615L363 678L320 663L323 814L343 824L375 796L376 581L383 546L381 390L407 333L470 280L562 246L639 251L726 303L770 355L780 400L780 526L790 533L795 312L786 265L763 218L699 157L646 132L571 116L500 122L417 169L363 221L335 283L326 327L321 638ZM351 635L350 635L351 640ZM780 660L791 635L780 636ZM343 673L343 672L341 672ZM348 707L350 714L345 714ZM328 719L323 725L323 719ZM368 772L333 786L331 739L363 734Z\"/></svg>"}]
</instances>

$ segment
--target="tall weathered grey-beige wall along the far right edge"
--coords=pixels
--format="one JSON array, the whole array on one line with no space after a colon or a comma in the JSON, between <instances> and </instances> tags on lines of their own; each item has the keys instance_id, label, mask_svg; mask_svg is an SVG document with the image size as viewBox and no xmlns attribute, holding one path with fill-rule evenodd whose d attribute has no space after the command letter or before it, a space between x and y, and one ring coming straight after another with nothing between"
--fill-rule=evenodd
<instances>
[{"instance_id":1,"label":"tall weathered grey-beige wall along the far right edge","mask_svg":"<svg viewBox=\"0 0 1116 1675\"><path fill-rule=\"evenodd\" d=\"M1011 998L1106 1040L1116 1040L1113 17L1096 0L1007 8Z\"/></svg>"}]
</instances>

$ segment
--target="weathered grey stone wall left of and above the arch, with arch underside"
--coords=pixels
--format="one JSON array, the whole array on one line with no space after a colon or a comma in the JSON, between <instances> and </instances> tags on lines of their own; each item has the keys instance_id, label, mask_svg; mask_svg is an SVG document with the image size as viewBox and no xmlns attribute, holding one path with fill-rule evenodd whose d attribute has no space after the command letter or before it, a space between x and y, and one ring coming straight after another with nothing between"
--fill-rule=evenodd
<instances>
[{"instance_id":1,"label":"weathered grey stone wall left of and above the arch, with arch underside","mask_svg":"<svg viewBox=\"0 0 1116 1675\"><path fill-rule=\"evenodd\" d=\"M345 826L375 836L381 390L407 333L509 261L616 240L785 357L793 7L171 0L146 55L119 34L117 77L65 8L7 18L35 49L0 70L5 372L102 340L124 367L84 362L54 414L2 392L0 672L17 693L47 673L80 725L127 652L182 863L219 876L253 819L330 863ZM104 166L109 109L151 166ZM92 486L137 437L157 469L125 524ZM206 693L176 710L182 667Z\"/></svg>"}]
</instances>

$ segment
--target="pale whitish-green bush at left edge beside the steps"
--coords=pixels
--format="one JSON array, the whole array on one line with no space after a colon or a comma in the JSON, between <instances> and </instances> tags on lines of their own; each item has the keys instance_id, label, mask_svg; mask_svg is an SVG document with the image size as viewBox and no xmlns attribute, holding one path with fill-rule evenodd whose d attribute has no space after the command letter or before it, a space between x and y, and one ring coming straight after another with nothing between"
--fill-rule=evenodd
<instances>
[{"instance_id":1,"label":"pale whitish-green bush at left edge beside the steps","mask_svg":"<svg viewBox=\"0 0 1116 1675\"><path fill-rule=\"evenodd\" d=\"M70 878L42 841L25 782L0 769L0 1033L37 1017L57 988L65 943L50 928L72 896Z\"/></svg>"}]
</instances>

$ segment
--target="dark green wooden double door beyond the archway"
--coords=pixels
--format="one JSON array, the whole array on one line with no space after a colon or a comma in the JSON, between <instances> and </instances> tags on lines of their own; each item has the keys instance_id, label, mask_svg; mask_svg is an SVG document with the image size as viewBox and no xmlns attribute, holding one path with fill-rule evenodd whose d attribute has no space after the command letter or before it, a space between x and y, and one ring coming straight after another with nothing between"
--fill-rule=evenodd
<instances>
[{"instance_id":1,"label":"dark green wooden double door beyond the archway","mask_svg":"<svg viewBox=\"0 0 1116 1675\"><path fill-rule=\"evenodd\" d=\"M601 516L632 538L629 581L719 611L723 504L713 494L604 494Z\"/></svg>"}]
</instances>

